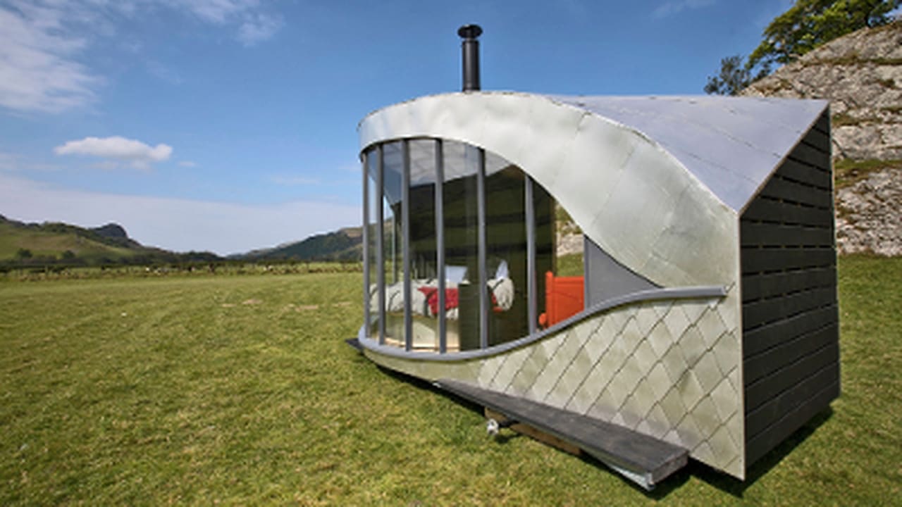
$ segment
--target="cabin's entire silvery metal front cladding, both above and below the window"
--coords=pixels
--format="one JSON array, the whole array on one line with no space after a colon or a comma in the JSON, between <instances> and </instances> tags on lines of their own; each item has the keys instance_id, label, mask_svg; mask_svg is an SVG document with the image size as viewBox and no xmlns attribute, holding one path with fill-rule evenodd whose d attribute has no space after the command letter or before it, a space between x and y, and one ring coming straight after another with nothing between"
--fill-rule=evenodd
<instances>
[{"instance_id":1,"label":"cabin's entire silvery metal front cladding, both above and below the window","mask_svg":"<svg viewBox=\"0 0 902 507\"><path fill-rule=\"evenodd\" d=\"M455 379L661 438L745 475L736 210L655 140L560 99L515 93L422 97L368 115L363 149L433 137L519 166L589 239L662 288L720 296L602 305L517 346L410 354L362 334L374 362Z\"/></svg>"}]
</instances>

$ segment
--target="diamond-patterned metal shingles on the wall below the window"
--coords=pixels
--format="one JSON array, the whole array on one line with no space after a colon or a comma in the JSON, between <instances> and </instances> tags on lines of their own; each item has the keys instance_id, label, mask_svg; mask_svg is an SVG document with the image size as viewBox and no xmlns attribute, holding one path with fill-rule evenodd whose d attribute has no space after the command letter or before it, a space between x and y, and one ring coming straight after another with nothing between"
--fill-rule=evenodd
<instances>
[{"instance_id":1,"label":"diamond-patterned metal shingles on the wall below the window","mask_svg":"<svg viewBox=\"0 0 902 507\"><path fill-rule=\"evenodd\" d=\"M732 304L735 294L613 309L485 367L495 390L665 438L741 475L741 346L720 314Z\"/></svg>"}]
</instances>

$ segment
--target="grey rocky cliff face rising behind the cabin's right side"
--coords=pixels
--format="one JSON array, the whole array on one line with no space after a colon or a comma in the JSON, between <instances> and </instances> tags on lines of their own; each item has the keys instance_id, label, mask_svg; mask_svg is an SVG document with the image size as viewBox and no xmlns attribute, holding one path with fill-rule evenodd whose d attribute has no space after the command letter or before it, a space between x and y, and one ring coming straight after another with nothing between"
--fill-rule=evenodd
<instances>
[{"instance_id":1,"label":"grey rocky cliff face rising behind the cabin's right side","mask_svg":"<svg viewBox=\"0 0 902 507\"><path fill-rule=\"evenodd\" d=\"M902 255L902 22L824 44L742 95L830 99L837 247Z\"/></svg>"}]
</instances>

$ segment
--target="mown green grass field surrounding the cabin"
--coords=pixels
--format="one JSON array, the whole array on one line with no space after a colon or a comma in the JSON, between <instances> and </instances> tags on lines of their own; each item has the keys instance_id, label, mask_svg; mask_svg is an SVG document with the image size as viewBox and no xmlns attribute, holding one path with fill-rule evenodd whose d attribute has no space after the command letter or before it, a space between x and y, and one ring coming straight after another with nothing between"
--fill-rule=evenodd
<instances>
[{"instance_id":1,"label":"mown green grass field surrounding the cabin","mask_svg":"<svg viewBox=\"0 0 902 507\"><path fill-rule=\"evenodd\" d=\"M902 259L840 277L833 410L653 493L366 361L359 273L0 281L0 504L899 504Z\"/></svg>"}]
</instances>

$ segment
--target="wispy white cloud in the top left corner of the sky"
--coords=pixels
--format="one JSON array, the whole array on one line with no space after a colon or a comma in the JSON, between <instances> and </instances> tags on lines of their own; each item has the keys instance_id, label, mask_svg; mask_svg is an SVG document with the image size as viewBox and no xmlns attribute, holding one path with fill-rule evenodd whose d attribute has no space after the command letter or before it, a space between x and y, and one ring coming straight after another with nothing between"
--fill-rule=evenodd
<instances>
[{"instance_id":1,"label":"wispy white cloud in the top left corner of the sky","mask_svg":"<svg viewBox=\"0 0 902 507\"><path fill-rule=\"evenodd\" d=\"M6 0L0 4L0 107L60 113L95 102L105 79L80 60L87 47L116 37L124 18L161 6L234 29L245 46L271 38L283 24L257 0ZM126 38L116 43L131 51L143 47ZM181 80L159 63L148 64L148 71Z\"/></svg>"}]
</instances>

